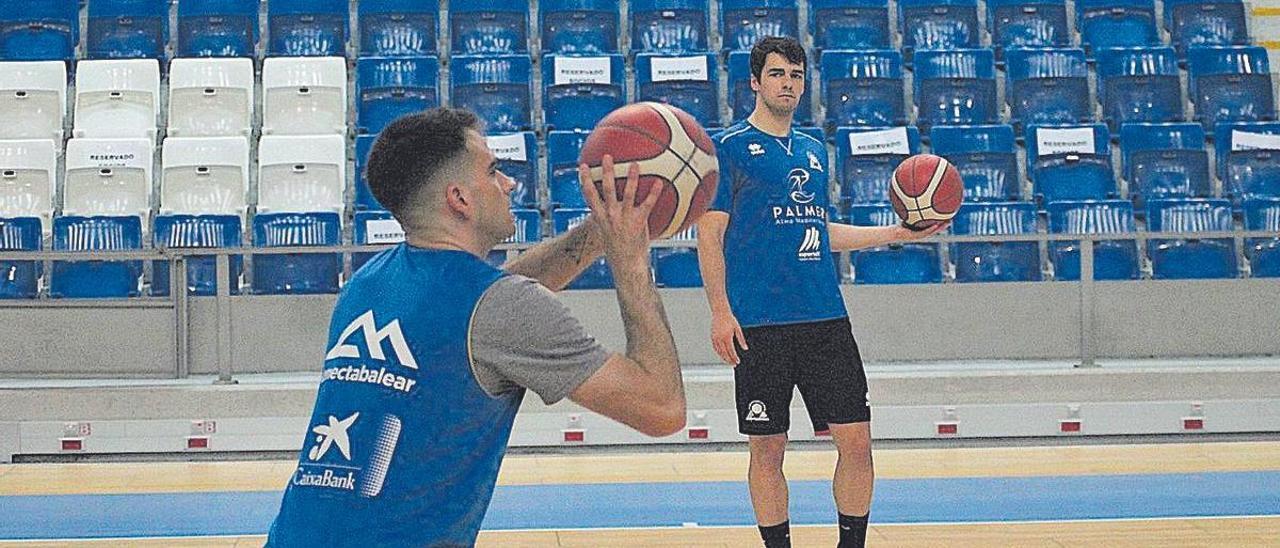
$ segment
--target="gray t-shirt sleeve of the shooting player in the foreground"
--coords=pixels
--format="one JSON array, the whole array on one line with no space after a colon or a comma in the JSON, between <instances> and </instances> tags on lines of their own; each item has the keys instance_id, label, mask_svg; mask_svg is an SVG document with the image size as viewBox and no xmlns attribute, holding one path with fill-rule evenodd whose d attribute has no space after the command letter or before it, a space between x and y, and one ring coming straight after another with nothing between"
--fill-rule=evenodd
<instances>
[{"instance_id":1,"label":"gray t-shirt sleeve of the shooting player in the foreground","mask_svg":"<svg viewBox=\"0 0 1280 548\"><path fill-rule=\"evenodd\" d=\"M563 399L609 359L550 289L509 275L485 291L471 318L471 370L490 396L525 387Z\"/></svg>"}]
</instances>

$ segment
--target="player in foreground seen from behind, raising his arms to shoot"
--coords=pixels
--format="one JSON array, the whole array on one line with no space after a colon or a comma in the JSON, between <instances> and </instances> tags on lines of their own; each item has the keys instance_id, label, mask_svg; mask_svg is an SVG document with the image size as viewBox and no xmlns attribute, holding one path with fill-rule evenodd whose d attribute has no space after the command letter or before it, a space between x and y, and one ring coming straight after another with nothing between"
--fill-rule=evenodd
<instances>
[{"instance_id":1,"label":"player in foreground seen from behind, raising his arms to shoot","mask_svg":"<svg viewBox=\"0 0 1280 548\"><path fill-rule=\"evenodd\" d=\"M484 257L515 232L477 118L433 109L383 131L369 156L374 196L406 243L343 288L315 411L270 547L475 544L512 423L532 391L570 398L649 435L685 425L685 392L649 277L649 210L631 165L617 200L580 170L586 223L497 269ZM552 289L600 254L613 269L626 353L602 348Z\"/></svg>"}]
</instances>

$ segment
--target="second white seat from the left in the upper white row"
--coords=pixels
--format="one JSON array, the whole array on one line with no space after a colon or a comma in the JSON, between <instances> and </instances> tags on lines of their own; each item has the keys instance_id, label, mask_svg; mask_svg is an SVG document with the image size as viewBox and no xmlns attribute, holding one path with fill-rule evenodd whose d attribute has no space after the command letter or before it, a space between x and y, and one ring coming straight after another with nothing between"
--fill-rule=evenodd
<instances>
[{"instance_id":1,"label":"second white seat from the left in the upper white row","mask_svg":"<svg viewBox=\"0 0 1280 548\"><path fill-rule=\"evenodd\" d=\"M155 138L160 64L155 59L81 61L76 67L76 137Z\"/></svg>"}]
</instances>

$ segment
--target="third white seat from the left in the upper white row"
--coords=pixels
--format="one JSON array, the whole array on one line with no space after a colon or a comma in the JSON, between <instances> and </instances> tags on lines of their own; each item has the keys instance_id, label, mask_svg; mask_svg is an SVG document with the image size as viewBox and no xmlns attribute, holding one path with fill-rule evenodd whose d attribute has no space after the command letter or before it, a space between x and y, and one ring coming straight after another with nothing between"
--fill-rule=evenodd
<instances>
[{"instance_id":1,"label":"third white seat from the left in the upper white row","mask_svg":"<svg viewBox=\"0 0 1280 548\"><path fill-rule=\"evenodd\" d=\"M248 136L252 59L174 59L169 64L170 136Z\"/></svg>"}]
</instances>

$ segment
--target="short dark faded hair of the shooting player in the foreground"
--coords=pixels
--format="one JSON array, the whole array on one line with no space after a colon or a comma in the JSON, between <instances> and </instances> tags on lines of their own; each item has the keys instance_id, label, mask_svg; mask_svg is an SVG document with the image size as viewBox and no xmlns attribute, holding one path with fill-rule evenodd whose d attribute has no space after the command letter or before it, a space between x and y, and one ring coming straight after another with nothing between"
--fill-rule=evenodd
<instances>
[{"instance_id":1,"label":"short dark faded hair of the shooting player in the foreground","mask_svg":"<svg viewBox=\"0 0 1280 548\"><path fill-rule=\"evenodd\" d=\"M378 202L403 223L413 196L466 150L467 129L483 132L480 118L470 110L447 106L410 114L387 125L365 163L365 181Z\"/></svg>"}]
</instances>

